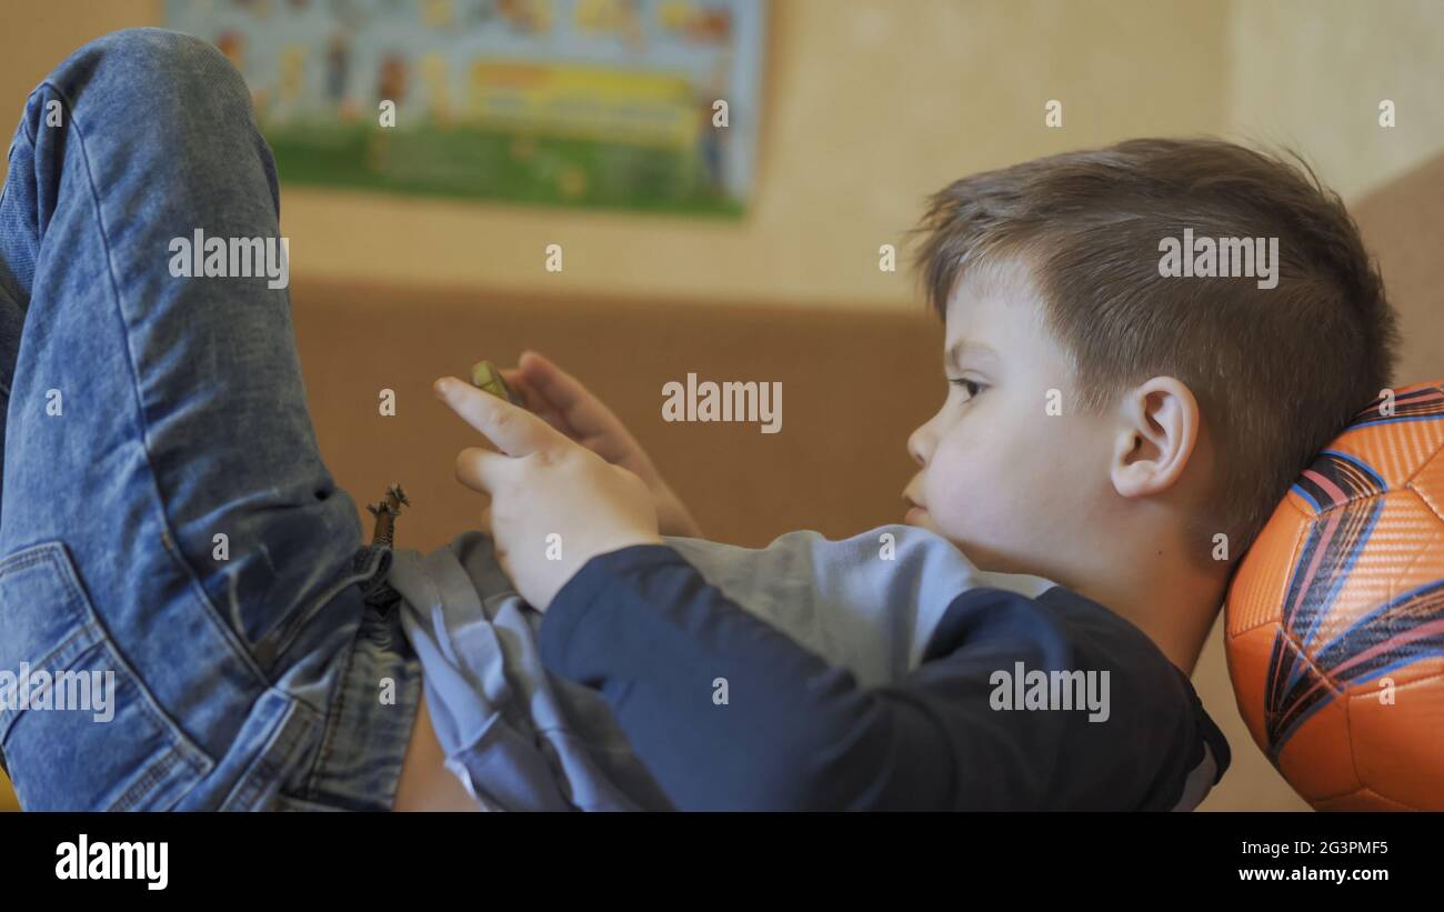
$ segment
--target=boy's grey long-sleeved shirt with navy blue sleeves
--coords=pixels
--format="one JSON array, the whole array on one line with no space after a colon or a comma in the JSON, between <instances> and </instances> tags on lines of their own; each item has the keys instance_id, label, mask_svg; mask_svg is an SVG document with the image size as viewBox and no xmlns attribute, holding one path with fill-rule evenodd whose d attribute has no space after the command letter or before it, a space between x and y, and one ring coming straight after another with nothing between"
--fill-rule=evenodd
<instances>
[{"instance_id":1,"label":"boy's grey long-sleeved shirt with navy blue sleeves","mask_svg":"<svg viewBox=\"0 0 1444 912\"><path fill-rule=\"evenodd\" d=\"M1229 765L1132 623L926 530L667 538L593 557L544 615L485 537L442 551L391 582L484 807L1188 810Z\"/></svg>"}]
</instances>

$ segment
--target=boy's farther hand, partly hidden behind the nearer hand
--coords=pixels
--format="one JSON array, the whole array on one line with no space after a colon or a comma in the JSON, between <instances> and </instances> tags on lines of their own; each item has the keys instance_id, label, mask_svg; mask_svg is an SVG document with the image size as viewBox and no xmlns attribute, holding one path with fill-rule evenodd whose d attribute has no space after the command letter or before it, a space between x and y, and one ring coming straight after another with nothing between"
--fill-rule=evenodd
<instances>
[{"instance_id":1,"label":"boy's farther hand, partly hidden behind the nearer hand","mask_svg":"<svg viewBox=\"0 0 1444 912\"><path fill-rule=\"evenodd\" d=\"M501 375L543 421L645 482L657 507L661 534L702 537L702 527L657 472L637 439L579 380L549 358L530 351L521 352L517 367L503 368Z\"/></svg>"}]
</instances>

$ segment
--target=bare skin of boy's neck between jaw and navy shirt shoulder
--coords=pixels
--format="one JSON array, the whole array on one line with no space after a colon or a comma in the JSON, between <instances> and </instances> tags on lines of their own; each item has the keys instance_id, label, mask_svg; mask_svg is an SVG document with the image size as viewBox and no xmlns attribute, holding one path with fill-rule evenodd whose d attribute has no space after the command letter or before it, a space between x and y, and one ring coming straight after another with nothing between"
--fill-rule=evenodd
<instances>
[{"instance_id":1,"label":"bare skin of boy's neck between jaw and navy shirt shoulder","mask_svg":"<svg viewBox=\"0 0 1444 912\"><path fill-rule=\"evenodd\" d=\"M1125 570L1079 579L1070 589L1126 618L1191 677L1219 616L1230 564L1200 567L1186 554L1162 551L1116 561L1110 570L1116 566Z\"/></svg>"}]
</instances>

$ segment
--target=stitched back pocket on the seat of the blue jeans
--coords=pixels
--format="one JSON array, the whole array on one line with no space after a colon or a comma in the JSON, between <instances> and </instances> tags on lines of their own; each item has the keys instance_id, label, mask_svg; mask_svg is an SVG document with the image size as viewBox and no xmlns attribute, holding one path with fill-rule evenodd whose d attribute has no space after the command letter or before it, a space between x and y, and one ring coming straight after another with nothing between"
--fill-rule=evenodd
<instances>
[{"instance_id":1,"label":"stitched back pocket on the seat of the blue jeans","mask_svg":"<svg viewBox=\"0 0 1444 912\"><path fill-rule=\"evenodd\" d=\"M0 752L27 811L169 810L214 768L121 655L59 541L0 560Z\"/></svg>"}]
</instances>

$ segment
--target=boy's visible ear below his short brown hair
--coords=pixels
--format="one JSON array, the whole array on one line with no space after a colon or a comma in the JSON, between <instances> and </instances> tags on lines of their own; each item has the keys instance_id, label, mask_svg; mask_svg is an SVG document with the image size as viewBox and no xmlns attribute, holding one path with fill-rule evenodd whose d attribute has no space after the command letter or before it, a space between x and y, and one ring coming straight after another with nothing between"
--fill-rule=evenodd
<instances>
[{"instance_id":1,"label":"boy's visible ear below his short brown hair","mask_svg":"<svg viewBox=\"0 0 1444 912\"><path fill-rule=\"evenodd\" d=\"M1122 393L1110 462L1113 488L1136 498L1177 483L1199 440L1199 423L1197 400L1173 377L1154 377Z\"/></svg>"}]
</instances>

